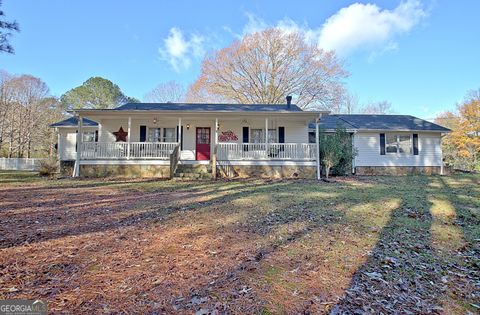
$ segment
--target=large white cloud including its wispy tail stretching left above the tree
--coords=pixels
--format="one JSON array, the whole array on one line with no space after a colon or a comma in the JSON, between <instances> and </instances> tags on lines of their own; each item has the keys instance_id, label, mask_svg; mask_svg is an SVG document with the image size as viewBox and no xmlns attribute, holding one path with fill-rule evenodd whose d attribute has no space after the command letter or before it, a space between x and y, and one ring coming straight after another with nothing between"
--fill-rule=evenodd
<instances>
[{"instance_id":1,"label":"large white cloud including its wispy tail stretching left above the tree","mask_svg":"<svg viewBox=\"0 0 480 315\"><path fill-rule=\"evenodd\" d=\"M356 50L368 51L372 61L388 51L398 50L396 37L410 31L427 13L419 0L403 1L393 10L382 10L376 4L354 3L340 9L319 28L290 18L269 25L252 13L246 15L248 21L242 34L235 34L237 37L276 27L285 32L299 32L307 42L343 56Z\"/></svg>"}]
</instances>

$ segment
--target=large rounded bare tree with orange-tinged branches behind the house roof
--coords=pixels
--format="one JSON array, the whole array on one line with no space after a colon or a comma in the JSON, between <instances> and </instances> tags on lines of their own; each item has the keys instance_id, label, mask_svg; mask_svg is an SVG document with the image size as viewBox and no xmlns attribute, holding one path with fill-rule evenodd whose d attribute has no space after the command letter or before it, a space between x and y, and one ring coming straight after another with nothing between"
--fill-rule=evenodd
<instances>
[{"instance_id":1,"label":"large rounded bare tree with orange-tinged branches behind the house roof","mask_svg":"<svg viewBox=\"0 0 480 315\"><path fill-rule=\"evenodd\" d=\"M290 94L304 109L336 109L347 75L334 52L301 34L267 29L206 56L187 100L280 104Z\"/></svg>"}]
</instances>

